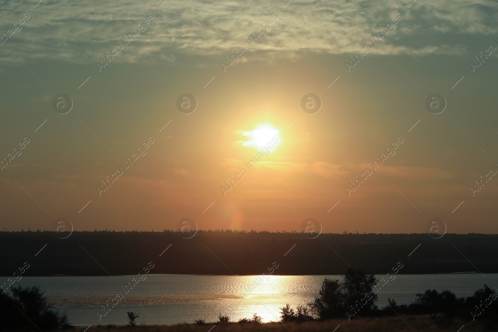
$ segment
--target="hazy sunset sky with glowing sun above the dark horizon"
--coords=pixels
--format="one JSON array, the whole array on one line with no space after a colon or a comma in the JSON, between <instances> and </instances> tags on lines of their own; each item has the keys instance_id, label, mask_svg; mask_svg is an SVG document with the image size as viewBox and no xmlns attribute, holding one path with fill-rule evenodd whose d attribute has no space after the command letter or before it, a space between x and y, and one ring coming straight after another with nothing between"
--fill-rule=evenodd
<instances>
[{"instance_id":1,"label":"hazy sunset sky with glowing sun above the dark horizon","mask_svg":"<svg viewBox=\"0 0 498 332\"><path fill-rule=\"evenodd\" d=\"M1 7L0 230L498 231L496 1Z\"/></svg>"}]
</instances>

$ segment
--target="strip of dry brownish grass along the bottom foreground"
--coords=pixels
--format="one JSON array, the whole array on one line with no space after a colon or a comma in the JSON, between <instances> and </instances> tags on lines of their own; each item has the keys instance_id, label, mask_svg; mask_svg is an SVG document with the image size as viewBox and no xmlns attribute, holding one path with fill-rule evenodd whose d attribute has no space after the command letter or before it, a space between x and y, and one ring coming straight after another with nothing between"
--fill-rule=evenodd
<instances>
[{"instance_id":1,"label":"strip of dry brownish grass along the bottom foreground","mask_svg":"<svg viewBox=\"0 0 498 332\"><path fill-rule=\"evenodd\" d=\"M455 320L451 323L437 323L439 319L426 316L403 315L399 317L360 318L351 321L331 320L325 322L304 323L263 323L263 324L239 324L239 323L206 323L198 326L195 324L179 324L173 326L145 326L145 327L91 327L87 332L208 332L216 326L212 332L457 332L465 325L461 332L488 332L497 331L496 323L485 321L462 321ZM409 326L408 326L409 325ZM76 329L75 332L83 332L85 329Z\"/></svg>"}]
</instances>

